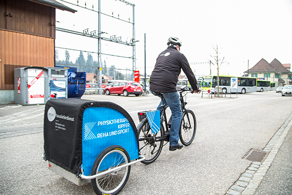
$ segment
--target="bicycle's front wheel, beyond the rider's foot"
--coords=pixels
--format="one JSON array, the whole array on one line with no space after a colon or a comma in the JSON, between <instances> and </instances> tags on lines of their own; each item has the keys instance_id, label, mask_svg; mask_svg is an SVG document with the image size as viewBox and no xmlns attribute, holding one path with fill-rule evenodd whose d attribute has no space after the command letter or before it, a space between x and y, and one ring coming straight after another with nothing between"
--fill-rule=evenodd
<instances>
[{"instance_id":1,"label":"bicycle's front wheel, beyond the rider's foot","mask_svg":"<svg viewBox=\"0 0 292 195\"><path fill-rule=\"evenodd\" d=\"M180 127L180 140L183 145L188 146L195 138L197 129L196 116L191 110L183 112L183 117Z\"/></svg>"}]
</instances>

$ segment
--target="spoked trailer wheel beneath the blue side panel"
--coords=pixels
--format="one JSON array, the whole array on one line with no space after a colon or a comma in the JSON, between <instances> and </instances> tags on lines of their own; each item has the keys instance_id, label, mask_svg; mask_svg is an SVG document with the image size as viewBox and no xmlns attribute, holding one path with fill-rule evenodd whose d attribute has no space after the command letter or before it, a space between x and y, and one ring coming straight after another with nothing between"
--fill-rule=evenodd
<instances>
[{"instance_id":1,"label":"spoked trailer wheel beneath the blue side panel","mask_svg":"<svg viewBox=\"0 0 292 195\"><path fill-rule=\"evenodd\" d=\"M104 149L95 159L91 175L119 167L129 163L128 152L121 146L110 146ZM127 166L120 170L91 179L91 185L97 195L117 195L126 185L131 167Z\"/></svg>"}]
</instances>

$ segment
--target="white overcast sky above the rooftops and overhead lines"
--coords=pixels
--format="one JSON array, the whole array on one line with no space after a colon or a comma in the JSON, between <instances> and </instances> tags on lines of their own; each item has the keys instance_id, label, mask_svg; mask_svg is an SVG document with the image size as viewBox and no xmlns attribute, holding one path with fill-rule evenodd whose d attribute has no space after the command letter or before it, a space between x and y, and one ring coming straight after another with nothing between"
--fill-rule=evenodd
<instances>
[{"instance_id":1,"label":"white overcast sky above the rooftops and overhead lines","mask_svg":"<svg viewBox=\"0 0 292 195\"><path fill-rule=\"evenodd\" d=\"M98 29L97 12L59 2L76 9L76 13L56 11L56 27L82 32ZM66 0L77 4L77 0ZM79 0L81 6L98 10L97 0ZM169 37L179 38L181 53L189 63L206 62L214 54L212 45L218 45L220 57L226 63L219 74L241 76L260 59L292 63L292 0L128 0L135 4L136 68L144 74L144 34L146 34L146 67L151 74L156 58L166 49ZM101 0L101 12L132 22L132 6L116 0ZM102 15L103 37L112 35L123 41L132 38L132 24ZM97 52L97 39L56 32L56 47ZM62 49L60 59L64 58ZM70 51L75 62L79 52ZM76 54L77 53L77 54ZM102 41L102 53L132 56L132 47ZM93 59L97 55L92 53ZM85 56L87 59L87 56ZM131 69L130 59L102 55L107 67ZM209 64L191 64L196 75L210 73ZM212 74L217 74L212 65Z\"/></svg>"}]
</instances>

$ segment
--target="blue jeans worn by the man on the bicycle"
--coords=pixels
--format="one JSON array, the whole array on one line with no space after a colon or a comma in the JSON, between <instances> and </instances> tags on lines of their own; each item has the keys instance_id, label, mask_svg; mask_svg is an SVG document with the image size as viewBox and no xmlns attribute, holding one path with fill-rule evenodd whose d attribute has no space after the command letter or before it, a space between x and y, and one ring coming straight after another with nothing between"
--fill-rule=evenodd
<instances>
[{"instance_id":1,"label":"blue jeans worn by the man on the bicycle","mask_svg":"<svg viewBox=\"0 0 292 195\"><path fill-rule=\"evenodd\" d=\"M151 92L152 93L152 92ZM176 146L179 143L179 132L182 120L182 108L180 102L180 96L177 92L163 93L163 101L165 106L169 106L172 114L169 145ZM162 111L161 102L159 103L157 110Z\"/></svg>"}]
</instances>

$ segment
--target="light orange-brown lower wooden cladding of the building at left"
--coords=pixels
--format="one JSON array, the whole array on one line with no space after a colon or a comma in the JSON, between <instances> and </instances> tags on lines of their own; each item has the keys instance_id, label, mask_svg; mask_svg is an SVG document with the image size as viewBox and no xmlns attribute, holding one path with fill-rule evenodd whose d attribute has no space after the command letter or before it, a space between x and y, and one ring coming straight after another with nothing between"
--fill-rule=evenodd
<instances>
[{"instance_id":1,"label":"light orange-brown lower wooden cladding of the building at left","mask_svg":"<svg viewBox=\"0 0 292 195\"><path fill-rule=\"evenodd\" d=\"M0 90L14 89L17 67L55 66L55 39L0 29Z\"/></svg>"}]
</instances>

